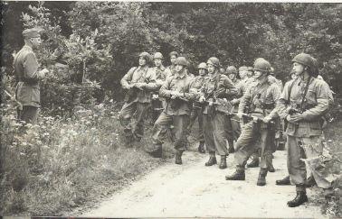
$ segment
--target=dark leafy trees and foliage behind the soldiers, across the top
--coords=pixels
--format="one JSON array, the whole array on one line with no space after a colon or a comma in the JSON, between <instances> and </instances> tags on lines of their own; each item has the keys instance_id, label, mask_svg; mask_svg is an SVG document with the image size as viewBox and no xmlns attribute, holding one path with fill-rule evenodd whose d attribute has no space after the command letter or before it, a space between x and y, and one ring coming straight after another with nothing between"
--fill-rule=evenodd
<instances>
[{"instance_id":1,"label":"dark leafy trees and foliage behind the soldiers, across the top","mask_svg":"<svg viewBox=\"0 0 342 219\"><path fill-rule=\"evenodd\" d=\"M29 5L50 11L42 18ZM86 39L97 30L93 50L107 48L111 55L105 64L87 58L87 77L101 86L98 96L122 97L119 79L138 64L142 50L162 52L165 65L167 54L177 50L190 60L191 71L212 56L225 68L252 66L254 59L263 57L283 81L289 78L294 55L307 52L318 59L320 74L334 91L342 92L341 4L5 2L2 8L2 66L7 72L12 53L23 45L23 13L60 28L60 41L54 36L49 50L59 49L60 59L75 72L80 65L65 55L71 50L67 42L71 35Z\"/></svg>"}]
</instances>

